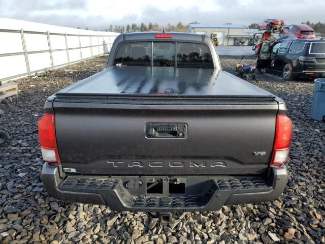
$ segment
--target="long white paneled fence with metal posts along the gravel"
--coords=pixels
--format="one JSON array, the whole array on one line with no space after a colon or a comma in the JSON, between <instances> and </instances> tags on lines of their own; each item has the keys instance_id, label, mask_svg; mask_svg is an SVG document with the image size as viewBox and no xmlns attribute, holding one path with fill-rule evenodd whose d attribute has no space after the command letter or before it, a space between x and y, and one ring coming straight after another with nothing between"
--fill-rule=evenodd
<instances>
[{"instance_id":1,"label":"long white paneled fence with metal posts along the gravel","mask_svg":"<svg viewBox=\"0 0 325 244\"><path fill-rule=\"evenodd\" d=\"M67 34L0 29L0 81L109 53L118 33Z\"/></svg>"}]
</instances>

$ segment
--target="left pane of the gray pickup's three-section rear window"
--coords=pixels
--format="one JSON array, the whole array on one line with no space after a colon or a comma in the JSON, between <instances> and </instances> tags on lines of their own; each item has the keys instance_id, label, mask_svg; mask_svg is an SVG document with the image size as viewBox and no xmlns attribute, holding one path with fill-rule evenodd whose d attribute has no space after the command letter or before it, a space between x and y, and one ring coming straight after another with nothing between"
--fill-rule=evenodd
<instances>
[{"instance_id":1,"label":"left pane of the gray pickup's three-section rear window","mask_svg":"<svg viewBox=\"0 0 325 244\"><path fill-rule=\"evenodd\" d=\"M123 43L119 46L114 65L150 66L150 42Z\"/></svg>"}]
</instances>

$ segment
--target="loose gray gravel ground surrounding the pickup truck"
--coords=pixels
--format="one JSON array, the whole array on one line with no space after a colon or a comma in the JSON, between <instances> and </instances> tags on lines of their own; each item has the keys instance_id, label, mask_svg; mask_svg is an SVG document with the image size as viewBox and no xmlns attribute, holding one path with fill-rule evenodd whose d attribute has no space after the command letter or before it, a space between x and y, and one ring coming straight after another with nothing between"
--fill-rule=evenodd
<instances>
[{"instance_id":1,"label":"loose gray gravel ground surrounding the pickup truck","mask_svg":"<svg viewBox=\"0 0 325 244\"><path fill-rule=\"evenodd\" d=\"M220 56L234 73L238 56ZM253 83L285 100L294 136L289 182L278 199L186 213L161 225L154 213L114 212L105 206L59 202L39 178L43 164L37 121L45 99L104 68L106 57L16 82L19 98L3 102L0 122L10 140L0 146L1 243L324 243L325 127L310 119L313 83L259 74Z\"/></svg>"}]
</instances>

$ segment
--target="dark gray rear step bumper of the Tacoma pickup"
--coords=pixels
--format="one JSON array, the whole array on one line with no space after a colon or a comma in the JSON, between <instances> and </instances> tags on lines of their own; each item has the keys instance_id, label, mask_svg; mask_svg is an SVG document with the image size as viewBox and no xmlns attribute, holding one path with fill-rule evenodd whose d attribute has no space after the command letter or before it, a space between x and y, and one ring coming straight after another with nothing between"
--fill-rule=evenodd
<instances>
[{"instance_id":1,"label":"dark gray rear step bumper of the Tacoma pickup","mask_svg":"<svg viewBox=\"0 0 325 244\"><path fill-rule=\"evenodd\" d=\"M194 191L198 191L200 187L203 189L200 189L200 194L194 195L188 192L171 195L165 190L162 194L135 195L132 194L133 190L126 189L125 176L74 175L62 180L59 176L59 168L46 163L43 165L41 176L45 190L58 200L107 205L110 209L118 211L214 211L219 210L223 205L271 201L281 195L287 184L285 166L272 168L268 181L259 177L206 176L200 179L199 176L183 176L180 178L181 181L191 182L189 189L196 189ZM154 176L150 177L154 178ZM167 182L170 178L166 177L164 181ZM177 177L172 178L177 179ZM146 177L141 179L146 181ZM146 184L143 184L143 187L145 186Z\"/></svg>"}]
</instances>

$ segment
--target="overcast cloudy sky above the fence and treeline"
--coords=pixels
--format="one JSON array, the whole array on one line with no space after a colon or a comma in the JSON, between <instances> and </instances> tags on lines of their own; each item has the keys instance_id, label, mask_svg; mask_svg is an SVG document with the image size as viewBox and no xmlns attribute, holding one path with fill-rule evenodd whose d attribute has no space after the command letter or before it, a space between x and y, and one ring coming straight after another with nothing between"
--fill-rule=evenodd
<instances>
[{"instance_id":1,"label":"overcast cloudy sky above the fence and treeline","mask_svg":"<svg viewBox=\"0 0 325 244\"><path fill-rule=\"evenodd\" d=\"M0 0L0 17L97 30L134 22L246 26L265 18L287 24L325 22L324 12L325 0Z\"/></svg>"}]
</instances>

